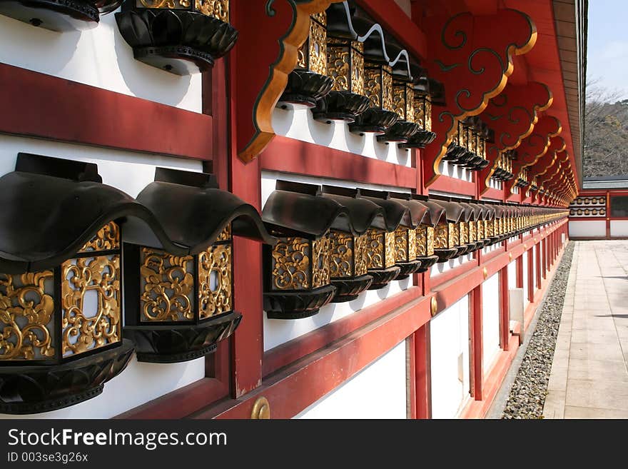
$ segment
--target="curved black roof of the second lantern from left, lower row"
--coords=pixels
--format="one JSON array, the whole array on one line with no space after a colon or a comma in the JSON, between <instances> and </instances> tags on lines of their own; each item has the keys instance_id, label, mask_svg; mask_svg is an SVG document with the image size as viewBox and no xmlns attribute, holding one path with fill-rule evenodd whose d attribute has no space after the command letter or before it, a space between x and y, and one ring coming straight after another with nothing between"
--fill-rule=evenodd
<instances>
[{"instance_id":1,"label":"curved black roof of the second lantern from left, lower row","mask_svg":"<svg viewBox=\"0 0 628 469\"><path fill-rule=\"evenodd\" d=\"M255 207L219 189L212 174L157 168L155 181L139 193L137 201L158 223L158 246L153 247L169 253L188 256L206 251L229 223L235 236L274 244ZM125 238L129 241L156 243L147 241L146 231L134 221L128 224Z\"/></svg>"}]
</instances>

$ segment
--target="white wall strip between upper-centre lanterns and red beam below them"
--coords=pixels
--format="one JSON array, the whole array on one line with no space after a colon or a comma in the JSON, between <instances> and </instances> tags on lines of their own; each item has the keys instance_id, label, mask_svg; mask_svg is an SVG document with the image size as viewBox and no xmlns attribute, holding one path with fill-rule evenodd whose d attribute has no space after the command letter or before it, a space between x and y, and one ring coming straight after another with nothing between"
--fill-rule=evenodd
<instances>
[{"instance_id":1,"label":"white wall strip between upper-centre lanterns and red beam below them","mask_svg":"<svg viewBox=\"0 0 628 469\"><path fill-rule=\"evenodd\" d=\"M373 133L366 133L364 136L351 133L348 124L344 122L315 121L312 112L303 106L295 109L275 108L273 129L277 135L295 140L316 143L408 168L412 166L409 150L400 150L395 143L379 143Z\"/></svg>"}]
</instances>

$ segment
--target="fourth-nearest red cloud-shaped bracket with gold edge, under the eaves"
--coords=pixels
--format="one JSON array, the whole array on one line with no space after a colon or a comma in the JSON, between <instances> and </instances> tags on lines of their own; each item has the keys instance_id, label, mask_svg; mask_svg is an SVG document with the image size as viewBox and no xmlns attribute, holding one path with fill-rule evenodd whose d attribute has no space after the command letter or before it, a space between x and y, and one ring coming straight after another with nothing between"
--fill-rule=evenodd
<instances>
[{"instance_id":1,"label":"fourth-nearest red cloud-shaped bracket with gold edge, under the eaves","mask_svg":"<svg viewBox=\"0 0 628 469\"><path fill-rule=\"evenodd\" d=\"M520 178L523 168L532 166L541 158L547 149L550 148L552 137L562 132L560 121L553 116L542 116L535 125L534 131L524 138L517 147L517 160L512 162L512 172L515 178L505 183L507 195L514 193L515 183ZM530 176L534 176L532 173Z\"/></svg>"}]
</instances>

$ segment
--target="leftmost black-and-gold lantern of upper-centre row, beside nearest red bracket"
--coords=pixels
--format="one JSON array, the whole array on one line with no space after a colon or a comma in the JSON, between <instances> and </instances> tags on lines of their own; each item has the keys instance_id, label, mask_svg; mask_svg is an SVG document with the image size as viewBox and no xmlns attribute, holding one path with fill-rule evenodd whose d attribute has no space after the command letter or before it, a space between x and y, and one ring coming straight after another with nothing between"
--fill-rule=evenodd
<instances>
[{"instance_id":1,"label":"leftmost black-and-gold lantern of upper-centre row, beside nearest red bracket","mask_svg":"<svg viewBox=\"0 0 628 469\"><path fill-rule=\"evenodd\" d=\"M314 107L332 86L333 79L327 73L327 14L322 11L310 16L308 39L298 51L297 66L288 75L288 84L278 106L283 109L295 104Z\"/></svg>"}]
</instances>

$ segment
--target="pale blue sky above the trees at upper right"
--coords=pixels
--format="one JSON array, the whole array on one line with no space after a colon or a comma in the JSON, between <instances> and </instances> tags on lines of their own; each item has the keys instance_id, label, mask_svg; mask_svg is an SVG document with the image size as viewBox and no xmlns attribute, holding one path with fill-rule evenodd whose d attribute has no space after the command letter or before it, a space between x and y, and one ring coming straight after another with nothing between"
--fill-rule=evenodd
<instances>
[{"instance_id":1,"label":"pale blue sky above the trees at upper right","mask_svg":"<svg viewBox=\"0 0 628 469\"><path fill-rule=\"evenodd\" d=\"M588 79L628 99L628 1L589 0Z\"/></svg>"}]
</instances>

